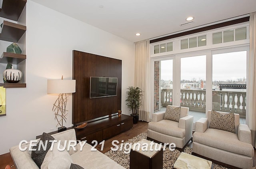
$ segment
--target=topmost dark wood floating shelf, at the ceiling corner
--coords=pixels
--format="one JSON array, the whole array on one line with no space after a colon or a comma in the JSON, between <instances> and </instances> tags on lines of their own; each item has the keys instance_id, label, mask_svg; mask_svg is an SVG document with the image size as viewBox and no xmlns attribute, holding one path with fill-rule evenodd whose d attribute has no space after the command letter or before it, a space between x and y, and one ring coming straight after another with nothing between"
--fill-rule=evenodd
<instances>
[{"instance_id":1,"label":"topmost dark wood floating shelf, at the ceiling corner","mask_svg":"<svg viewBox=\"0 0 256 169\"><path fill-rule=\"evenodd\" d=\"M3 0L0 17L18 21L27 0Z\"/></svg>"}]
</instances>

